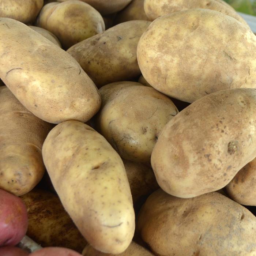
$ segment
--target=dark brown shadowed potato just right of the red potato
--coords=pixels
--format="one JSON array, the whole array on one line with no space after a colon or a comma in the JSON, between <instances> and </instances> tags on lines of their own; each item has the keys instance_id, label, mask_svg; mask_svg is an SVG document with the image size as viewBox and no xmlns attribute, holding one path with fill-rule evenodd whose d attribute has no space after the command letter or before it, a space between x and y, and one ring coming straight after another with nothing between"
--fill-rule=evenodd
<instances>
[{"instance_id":1,"label":"dark brown shadowed potato just right of the red potato","mask_svg":"<svg viewBox=\"0 0 256 256\"><path fill-rule=\"evenodd\" d=\"M33 189L21 199L27 207L27 236L42 247L59 246L82 252L87 242L62 206L58 196Z\"/></svg>"}]
</instances>

